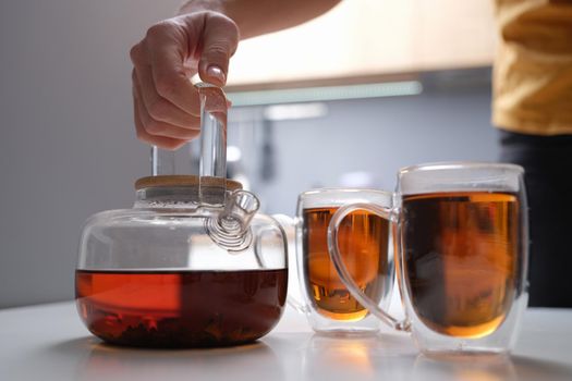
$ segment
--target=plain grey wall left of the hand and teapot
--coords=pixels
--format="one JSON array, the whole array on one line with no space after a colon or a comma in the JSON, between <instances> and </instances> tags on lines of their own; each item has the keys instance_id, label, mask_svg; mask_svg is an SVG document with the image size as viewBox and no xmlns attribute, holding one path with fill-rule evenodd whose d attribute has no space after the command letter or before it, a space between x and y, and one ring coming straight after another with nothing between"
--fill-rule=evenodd
<instances>
[{"instance_id":1,"label":"plain grey wall left of the hand and teapot","mask_svg":"<svg viewBox=\"0 0 572 381\"><path fill-rule=\"evenodd\" d=\"M0 2L0 307L71 297L83 221L131 205L127 52L179 2Z\"/></svg>"}]
</instances>

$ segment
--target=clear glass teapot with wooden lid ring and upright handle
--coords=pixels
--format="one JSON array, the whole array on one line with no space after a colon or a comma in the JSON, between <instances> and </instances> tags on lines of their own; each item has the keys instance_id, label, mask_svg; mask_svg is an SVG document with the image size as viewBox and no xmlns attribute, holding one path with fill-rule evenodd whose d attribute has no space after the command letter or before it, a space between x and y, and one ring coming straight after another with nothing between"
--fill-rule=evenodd
<instances>
[{"instance_id":1,"label":"clear glass teapot with wooden lid ring and upright handle","mask_svg":"<svg viewBox=\"0 0 572 381\"><path fill-rule=\"evenodd\" d=\"M78 314L112 344L203 347L268 333L284 309L288 242L257 213L255 195L226 179L227 98L200 95L199 175L174 173L153 148L153 176L135 183L133 209L85 223L75 278Z\"/></svg>"}]
</instances>

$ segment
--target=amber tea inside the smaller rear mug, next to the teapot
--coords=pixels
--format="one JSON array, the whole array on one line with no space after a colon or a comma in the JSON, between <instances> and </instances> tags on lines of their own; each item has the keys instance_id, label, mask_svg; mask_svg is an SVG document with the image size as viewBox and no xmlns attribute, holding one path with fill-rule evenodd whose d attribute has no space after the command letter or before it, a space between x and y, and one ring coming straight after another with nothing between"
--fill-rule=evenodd
<instances>
[{"instance_id":1,"label":"amber tea inside the smaller rear mug, next to the teapot","mask_svg":"<svg viewBox=\"0 0 572 381\"><path fill-rule=\"evenodd\" d=\"M365 309L348 291L328 254L327 230L338 208L309 208L303 212L303 267L308 298L322 316L345 321L361 320ZM340 224L340 254L357 285L380 300L387 275L389 223L358 210Z\"/></svg>"}]
</instances>

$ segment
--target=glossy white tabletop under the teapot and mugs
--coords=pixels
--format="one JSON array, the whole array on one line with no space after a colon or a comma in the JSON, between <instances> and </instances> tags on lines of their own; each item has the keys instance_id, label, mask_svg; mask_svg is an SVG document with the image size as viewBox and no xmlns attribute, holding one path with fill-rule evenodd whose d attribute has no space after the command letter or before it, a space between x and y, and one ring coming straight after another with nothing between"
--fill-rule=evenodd
<instances>
[{"instance_id":1,"label":"glossy white tabletop under the teapot and mugs","mask_svg":"<svg viewBox=\"0 0 572 381\"><path fill-rule=\"evenodd\" d=\"M291 309L259 342L151 351L101 344L73 303L0 310L0 380L572 380L572 309L528 309L511 358L445 361L404 334L315 335Z\"/></svg>"}]
</instances>

